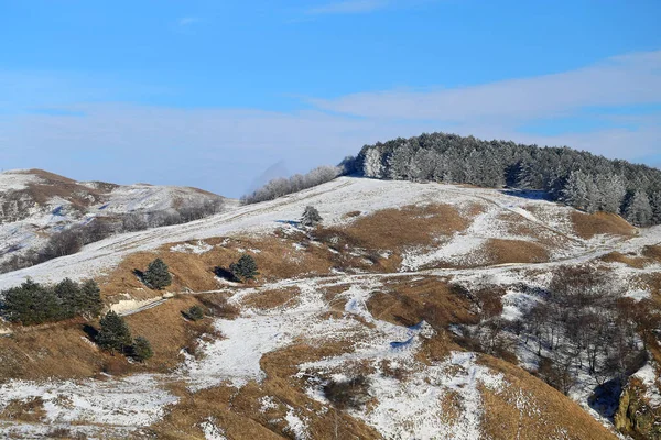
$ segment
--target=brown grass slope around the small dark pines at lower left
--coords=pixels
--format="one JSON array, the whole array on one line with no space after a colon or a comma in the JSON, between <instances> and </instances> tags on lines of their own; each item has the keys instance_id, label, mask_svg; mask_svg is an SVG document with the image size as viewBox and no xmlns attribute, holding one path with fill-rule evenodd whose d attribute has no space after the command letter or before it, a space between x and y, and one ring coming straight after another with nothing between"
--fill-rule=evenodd
<instances>
[{"instance_id":1,"label":"brown grass slope around the small dark pines at lower left","mask_svg":"<svg viewBox=\"0 0 661 440\"><path fill-rule=\"evenodd\" d=\"M154 356L141 365L99 350L85 331L90 324L82 319L13 327L12 337L0 338L0 383L12 378L85 378L100 372L124 375L170 371L180 363L181 349L194 351L199 336L213 332L209 318L192 322L181 315L182 310L201 304L194 296L181 296L126 318L132 336L145 337L154 351Z\"/></svg>"}]
</instances>

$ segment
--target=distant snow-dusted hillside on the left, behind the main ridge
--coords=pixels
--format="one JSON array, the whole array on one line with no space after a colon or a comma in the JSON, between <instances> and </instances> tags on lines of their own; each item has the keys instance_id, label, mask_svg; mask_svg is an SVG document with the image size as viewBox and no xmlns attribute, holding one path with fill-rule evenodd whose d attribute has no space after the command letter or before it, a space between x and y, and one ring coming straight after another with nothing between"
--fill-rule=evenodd
<instances>
[{"instance_id":1,"label":"distant snow-dusted hillside on the left, behind the main ridge","mask_svg":"<svg viewBox=\"0 0 661 440\"><path fill-rule=\"evenodd\" d=\"M120 229L181 222L186 209L221 204L196 188L75 182L41 169L0 173L0 266L33 264L53 234L72 227L87 227L86 241L95 241Z\"/></svg>"}]
</instances>

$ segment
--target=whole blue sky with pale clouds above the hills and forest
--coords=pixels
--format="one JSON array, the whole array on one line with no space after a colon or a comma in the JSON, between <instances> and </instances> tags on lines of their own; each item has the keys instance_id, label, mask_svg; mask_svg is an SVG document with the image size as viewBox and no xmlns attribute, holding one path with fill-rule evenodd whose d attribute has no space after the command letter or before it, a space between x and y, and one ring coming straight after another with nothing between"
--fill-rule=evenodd
<instances>
[{"instance_id":1,"label":"whole blue sky with pale clouds above the hills and forest","mask_svg":"<svg viewBox=\"0 0 661 440\"><path fill-rule=\"evenodd\" d=\"M661 2L0 0L0 168L239 196L447 131L661 164Z\"/></svg>"}]
</instances>

